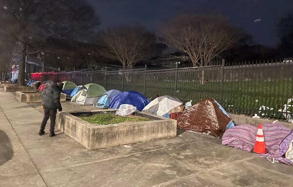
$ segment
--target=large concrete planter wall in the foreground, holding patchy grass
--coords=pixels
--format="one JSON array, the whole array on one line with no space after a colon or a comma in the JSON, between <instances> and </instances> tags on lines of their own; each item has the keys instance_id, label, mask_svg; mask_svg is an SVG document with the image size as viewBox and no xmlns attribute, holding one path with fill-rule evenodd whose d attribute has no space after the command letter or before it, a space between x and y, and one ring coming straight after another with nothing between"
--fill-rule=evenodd
<instances>
[{"instance_id":1,"label":"large concrete planter wall in the foreground, holding patchy grass","mask_svg":"<svg viewBox=\"0 0 293 187\"><path fill-rule=\"evenodd\" d=\"M115 110L103 111L115 112ZM151 121L94 125L76 117L103 111L61 112L57 117L57 127L89 150L176 136L176 120L143 112L136 112L135 115L146 117Z\"/></svg>"}]
</instances>

